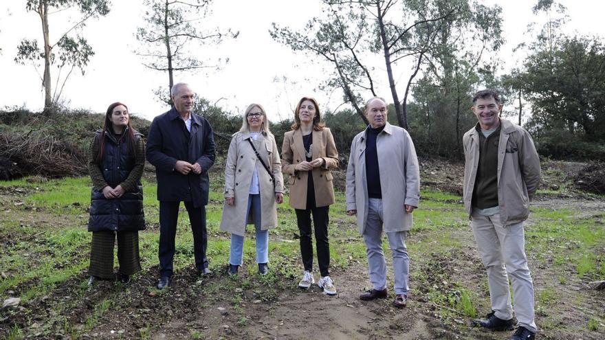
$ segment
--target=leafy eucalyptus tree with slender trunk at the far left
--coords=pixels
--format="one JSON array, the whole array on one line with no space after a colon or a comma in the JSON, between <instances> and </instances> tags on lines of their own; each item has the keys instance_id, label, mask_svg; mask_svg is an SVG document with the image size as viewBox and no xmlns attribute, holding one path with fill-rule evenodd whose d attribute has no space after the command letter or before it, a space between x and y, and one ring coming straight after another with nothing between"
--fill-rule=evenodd
<instances>
[{"instance_id":1,"label":"leafy eucalyptus tree with slender trunk at the far left","mask_svg":"<svg viewBox=\"0 0 605 340\"><path fill-rule=\"evenodd\" d=\"M99 16L105 16L109 13L110 2L107 0L27 0L25 8L28 12L36 13L42 26L42 47L39 47L36 39L24 38L17 47L17 57L15 62L20 64L32 63L36 70L41 67L43 62L43 72L41 76L42 87L44 89L44 111L50 113L52 106L59 97L67 78L74 69L80 69L82 74L88 65L91 56L94 56L92 47L88 44L86 38L79 33L85 27L89 19L95 19ZM77 19L75 21L67 20L67 27L58 35L54 41L51 39L50 17L53 14L59 14L63 11L72 12L77 10ZM62 19L65 20L65 19ZM70 36L75 32L75 36ZM52 82L51 69L56 67L58 73L55 84ZM63 76L61 83L61 73L66 70L67 74ZM61 83L61 87L59 84ZM54 91L52 90L54 87Z\"/></svg>"}]
</instances>

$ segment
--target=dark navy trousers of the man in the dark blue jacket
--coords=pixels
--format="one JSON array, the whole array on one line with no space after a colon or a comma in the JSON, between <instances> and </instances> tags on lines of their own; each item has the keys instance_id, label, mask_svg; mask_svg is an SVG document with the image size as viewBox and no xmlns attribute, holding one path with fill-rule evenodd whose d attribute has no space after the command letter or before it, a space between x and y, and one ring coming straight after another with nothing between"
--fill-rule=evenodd
<instances>
[{"instance_id":1,"label":"dark navy trousers of the man in the dark blue jacket","mask_svg":"<svg viewBox=\"0 0 605 340\"><path fill-rule=\"evenodd\" d=\"M193 233L193 253L195 255L195 268L202 270L208 268L206 247L208 247L208 234L206 234L206 206L194 207L190 201L184 201L189 214L191 231ZM173 275L173 258L175 257L175 237L177 236L177 220L179 218L180 202L159 201L159 274Z\"/></svg>"}]
</instances>

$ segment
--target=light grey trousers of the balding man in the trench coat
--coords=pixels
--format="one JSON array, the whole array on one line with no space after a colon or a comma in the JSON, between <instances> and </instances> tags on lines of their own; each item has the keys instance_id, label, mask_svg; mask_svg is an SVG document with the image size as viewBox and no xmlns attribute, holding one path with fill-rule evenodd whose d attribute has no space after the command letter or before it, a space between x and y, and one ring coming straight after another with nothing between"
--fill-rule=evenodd
<instances>
[{"instance_id":1,"label":"light grey trousers of the balding man in the trench coat","mask_svg":"<svg viewBox=\"0 0 605 340\"><path fill-rule=\"evenodd\" d=\"M373 288L382 291L386 288L386 261L382 251L382 199L369 199L368 219L364 230L366 254L370 281ZM408 277L410 257L406 248L406 231L386 233L388 245L393 253L393 276L395 277L395 294L408 295Z\"/></svg>"}]
</instances>

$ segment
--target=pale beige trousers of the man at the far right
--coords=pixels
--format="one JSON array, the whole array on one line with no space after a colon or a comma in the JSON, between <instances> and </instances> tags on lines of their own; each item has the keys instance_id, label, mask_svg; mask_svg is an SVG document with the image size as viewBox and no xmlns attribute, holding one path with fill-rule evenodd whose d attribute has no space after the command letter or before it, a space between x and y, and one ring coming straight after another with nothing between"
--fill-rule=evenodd
<instances>
[{"instance_id":1,"label":"pale beige trousers of the man at the far right","mask_svg":"<svg viewBox=\"0 0 605 340\"><path fill-rule=\"evenodd\" d=\"M500 214L481 216L473 213L470 225L483 266L487 270L489 298L492 300L494 314L505 320L513 317L508 283L510 275L518 324L536 332L536 322L533 319L533 281L525 256L523 223L503 226Z\"/></svg>"}]
</instances>

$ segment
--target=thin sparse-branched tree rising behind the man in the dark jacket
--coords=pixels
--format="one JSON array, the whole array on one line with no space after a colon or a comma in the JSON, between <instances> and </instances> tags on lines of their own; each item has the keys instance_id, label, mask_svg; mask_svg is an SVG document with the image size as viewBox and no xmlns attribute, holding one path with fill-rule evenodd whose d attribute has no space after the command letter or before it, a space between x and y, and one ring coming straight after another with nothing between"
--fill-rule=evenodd
<instances>
[{"instance_id":1,"label":"thin sparse-branched tree rising behind the man in the dark jacket","mask_svg":"<svg viewBox=\"0 0 605 340\"><path fill-rule=\"evenodd\" d=\"M204 46L218 45L225 38L236 38L239 32L218 27L202 27L210 15L211 0L146 0L146 24L137 28L140 49L135 53L143 58L143 65L168 73L168 89L158 89L157 95L170 102L174 73L203 68L219 68L222 60L208 63L198 56ZM225 59L228 62L228 58Z\"/></svg>"}]
</instances>

